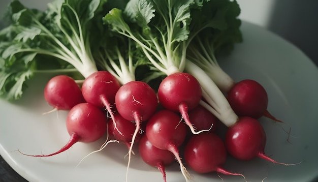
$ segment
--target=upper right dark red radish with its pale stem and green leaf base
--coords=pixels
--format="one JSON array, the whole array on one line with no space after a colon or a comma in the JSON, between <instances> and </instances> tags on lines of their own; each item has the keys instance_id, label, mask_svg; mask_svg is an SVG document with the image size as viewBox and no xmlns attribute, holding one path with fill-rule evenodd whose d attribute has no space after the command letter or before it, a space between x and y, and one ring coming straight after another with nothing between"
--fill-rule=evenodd
<instances>
[{"instance_id":1,"label":"upper right dark red radish with its pale stem and green leaf base","mask_svg":"<svg viewBox=\"0 0 318 182\"><path fill-rule=\"evenodd\" d=\"M237 25L238 24L229 26L228 28L235 29L237 28ZM222 35L222 31L220 31L220 35L216 36L214 33L211 34L212 32L213 31L203 31L190 42L186 55L189 62L194 63L204 70L217 87L227 95L228 102L239 116L250 116L256 119L265 116L276 122L283 123L281 120L271 115L267 110L267 93L260 83L250 79L236 83L224 70L222 70L217 63L215 52L222 47L221 44L227 44L226 41L217 41L221 40L220 37L225 36L226 34ZM219 39L214 39L215 36L220 37L218 37ZM227 37L225 39L229 42L233 41L231 44L234 44L234 42L237 41L239 42L240 40L235 39L235 37ZM199 79L199 77L196 78Z\"/></svg>"}]
</instances>

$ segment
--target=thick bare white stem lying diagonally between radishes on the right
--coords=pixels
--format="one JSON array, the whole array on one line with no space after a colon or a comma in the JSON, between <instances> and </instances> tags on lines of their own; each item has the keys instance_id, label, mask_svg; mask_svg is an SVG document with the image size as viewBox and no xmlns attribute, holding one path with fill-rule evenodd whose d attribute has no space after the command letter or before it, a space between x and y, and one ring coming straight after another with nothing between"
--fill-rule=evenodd
<instances>
[{"instance_id":1,"label":"thick bare white stem lying diagonally between radishes on the right","mask_svg":"<svg viewBox=\"0 0 318 182\"><path fill-rule=\"evenodd\" d=\"M211 106L214 105L214 107L212 107L216 112L219 113L218 116L215 116L218 117L218 119L227 127L233 126L237 122L238 116L231 108L224 94L211 80L211 78L200 67L189 60L186 61L184 70L185 72L192 74L195 78L197 78L202 89L206 93L206 101ZM209 102L211 99L214 101L213 103Z\"/></svg>"}]
</instances>

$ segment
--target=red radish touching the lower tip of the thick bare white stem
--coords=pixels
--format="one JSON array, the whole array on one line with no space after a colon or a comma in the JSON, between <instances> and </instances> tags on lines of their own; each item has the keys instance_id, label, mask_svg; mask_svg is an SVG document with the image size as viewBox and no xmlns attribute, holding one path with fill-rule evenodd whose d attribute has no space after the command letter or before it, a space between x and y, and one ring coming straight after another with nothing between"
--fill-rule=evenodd
<instances>
[{"instance_id":1,"label":"red radish touching the lower tip of the thick bare white stem","mask_svg":"<svg viewBox=\"0 0 318 182\"><path fill-rule=\"evenodd\" d=\"M266 134L262 125L252 117L241 117L238 122L228 128L225 135L227 151L236 159L251 160L259 157L267 161L276 162L265 155Z\"/></svg>"}]
</instances>

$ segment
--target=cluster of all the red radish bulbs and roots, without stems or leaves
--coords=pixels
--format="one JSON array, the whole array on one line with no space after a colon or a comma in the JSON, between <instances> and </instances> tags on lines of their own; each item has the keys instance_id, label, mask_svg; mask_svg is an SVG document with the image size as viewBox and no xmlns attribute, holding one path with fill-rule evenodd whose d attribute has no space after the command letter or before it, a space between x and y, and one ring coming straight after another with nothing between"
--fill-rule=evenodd
<instances>
[{"instance_id":1,"label":"cluster of all the red radish bulbs and roots, without stems or leaves","mask_svg":"<svg viewBox=\"0 0 318 182\"><path fill-rule=\"evenodd\" d=\"M59 75L46 84L44 97L55 109L70 110L66 127L71 138L55 153L29 156L53 156L76 142L93 142L108 132L111 139L128 146L130 158L134 143L138 143L144 162L157 167L164 181L165 165L174 159L185 179L192 179L178 151L181 145L184 162L198 173L242 175L222 168L227 152L239 160L260 157L278 163L264 154L266 135L256 120L260 114L256 117L255 113L237 112L240 117L229 126L223 141L215 133L220 125L217 117L200 105L205 101L198 80L188 73L167 76L158 90L142 81L120 85L107 71L91 74L81 86L73 78ZM238 108L258 106L266 110L267 94L256 81L236 83L227 98ZM263 100L263 105L252 105L255 100Z\"/></svg>"}]
</instances>

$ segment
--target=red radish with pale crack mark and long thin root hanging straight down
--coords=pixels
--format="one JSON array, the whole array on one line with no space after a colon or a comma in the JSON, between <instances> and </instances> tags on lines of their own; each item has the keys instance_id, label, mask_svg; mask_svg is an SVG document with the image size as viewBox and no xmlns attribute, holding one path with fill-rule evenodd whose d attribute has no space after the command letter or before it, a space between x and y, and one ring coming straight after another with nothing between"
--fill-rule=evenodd
<instances>
[{"instance_id":1,"label":"red radish with pale crack mark and long thin root hanging straight down","mask_svg":"<svg viewBox=\"0 0 318 182\"><path fill-rule=\"evenodd\" d=\"M130 81L118 89L115 96L115 103L118 113L123 118L136 122L136 129L129 149L127 178L132 149L140 130L140 124L145 122L154 113L158 101L154 90L147 83L142 81Z\"/></svg>"}]
</instances>

